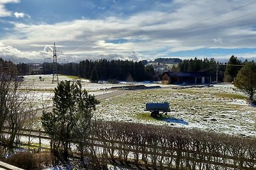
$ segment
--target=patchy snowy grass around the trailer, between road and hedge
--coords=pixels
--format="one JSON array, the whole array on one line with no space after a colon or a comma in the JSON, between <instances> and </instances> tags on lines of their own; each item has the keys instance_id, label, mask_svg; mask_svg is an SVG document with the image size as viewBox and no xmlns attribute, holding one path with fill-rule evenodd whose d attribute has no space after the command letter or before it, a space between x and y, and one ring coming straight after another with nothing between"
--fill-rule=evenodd
<instances>
[{"instance_id":1,"label":"patchy snowy grass around the trailer, between road and hedge","mask_svg":"<svg viewBox=\"0 0 256 170\"><path fill-rule=\"evenodd\" d=\"M172 110L167 118L171 122L180 120L172 122L175 126L254 136L256 108L246 104L247 99L232 87L135 90L102 101L97 108L100 115L95 115L117 121L170 125L165 115L152 118L149 111L144 111L145 103L166 101Z\"/></svg>"}]
</instances>

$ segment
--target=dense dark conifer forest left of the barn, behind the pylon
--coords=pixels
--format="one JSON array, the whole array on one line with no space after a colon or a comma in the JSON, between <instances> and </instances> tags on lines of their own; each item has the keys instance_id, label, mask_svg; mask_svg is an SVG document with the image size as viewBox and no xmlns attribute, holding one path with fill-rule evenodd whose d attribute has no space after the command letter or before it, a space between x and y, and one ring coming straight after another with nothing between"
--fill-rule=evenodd
<instances>
[{"instance_id":1,"label":"dense dark conifer forest left of the barn, behind the pylon","mask_svg":"<svg viewBox=\"0 0 256 170\"><path fill-rule=\"evenodd\" d=\"M94 72L93 72L94 69ZM95 74L96 72L96 74ZM52 63L42 64L42 74L52 73ZM134 81L153 80L154 68L132 60L83 60L79 63L58 64L58 73L98 80L124 81L130 75Z\"/></svg>"}]
</instances>

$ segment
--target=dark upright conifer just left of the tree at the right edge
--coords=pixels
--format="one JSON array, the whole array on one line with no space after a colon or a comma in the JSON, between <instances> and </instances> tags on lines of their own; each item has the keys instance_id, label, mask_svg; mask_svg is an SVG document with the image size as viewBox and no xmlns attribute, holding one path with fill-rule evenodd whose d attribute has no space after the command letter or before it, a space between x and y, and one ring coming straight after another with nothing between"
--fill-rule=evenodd
<instances>
[{"instance_id":1,"label":"dark upright conifer just left of the tree at the right edge","mask_svg":"<svg viewBox=\"0 0 256 170\"><path fill-rule=\"evenodd\" d=\"M242 66L232 66L232 65L241 65L242 62L241 60L238 60L237 57L234 57L234 55L232 55L228 60L227 64L231 64L231 65L226 66L225 73L224 73L224 81L232 82L234 81L234 78L236 77L238 71L242 67Z\"/></svg>"}]
</instances>

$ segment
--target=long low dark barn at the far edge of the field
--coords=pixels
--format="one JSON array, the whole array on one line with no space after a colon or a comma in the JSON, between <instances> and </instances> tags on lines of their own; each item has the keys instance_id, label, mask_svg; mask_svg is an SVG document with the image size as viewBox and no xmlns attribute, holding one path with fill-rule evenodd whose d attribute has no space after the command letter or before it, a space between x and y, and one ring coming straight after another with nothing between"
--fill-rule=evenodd
<instances>
[{"instance_id":1,"label":"long low dark barn at the far edge of the field","mask_svg":"<svg viewBox=\"0 0 256 170\"><path fill-rule=\"evenodd\" d=\"M201 72L164 72L162 82L166 84L209 84L211 74Z\"/></svg>"}]
</instances>

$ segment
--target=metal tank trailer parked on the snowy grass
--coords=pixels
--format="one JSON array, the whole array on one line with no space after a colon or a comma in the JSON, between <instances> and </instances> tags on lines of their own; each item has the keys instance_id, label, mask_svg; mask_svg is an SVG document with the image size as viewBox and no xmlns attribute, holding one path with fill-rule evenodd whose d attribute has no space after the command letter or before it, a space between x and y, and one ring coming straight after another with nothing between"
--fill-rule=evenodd
<instances>
[{"instance_id":1,"label":"metal tank trailer parked on the snowy grass","mask_svg":"<svg viewBox=\"0 0 256 170\"><path fill-rule=\"evenodd\" d=\"M163 113L167 115L167 112L170 111L170 104L168 102L146 103L145 111L151 111L151 117L157 117L157 115L161 116Z\"/></svg>"}]
</instances>

